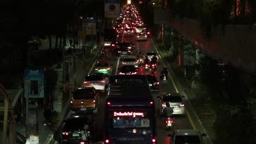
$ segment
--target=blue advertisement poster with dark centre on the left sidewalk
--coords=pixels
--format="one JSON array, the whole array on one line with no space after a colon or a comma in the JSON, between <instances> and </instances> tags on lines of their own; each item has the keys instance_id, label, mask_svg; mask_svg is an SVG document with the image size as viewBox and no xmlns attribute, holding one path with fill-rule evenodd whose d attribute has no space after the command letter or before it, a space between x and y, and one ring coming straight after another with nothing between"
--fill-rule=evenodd
<instances>
[{"instance_id":1,"label":"blue advertisement poster with dark centre on the left sidewalk","mask_svg":"<svg viewBox=\"0 0 256 144\"><path fill-rule=\"evenodd\" d=\"M24 97L44 98L44 69L24 70Z\"/></svg>"}]
</instances>

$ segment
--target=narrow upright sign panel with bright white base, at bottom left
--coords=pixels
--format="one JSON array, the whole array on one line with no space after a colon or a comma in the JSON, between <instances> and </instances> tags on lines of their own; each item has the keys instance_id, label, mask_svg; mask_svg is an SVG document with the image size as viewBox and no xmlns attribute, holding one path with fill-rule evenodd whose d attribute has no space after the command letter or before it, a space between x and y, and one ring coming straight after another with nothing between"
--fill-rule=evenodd
<instances>
[{"instance_id":1,"label":"narrow upright sign panel with bright white base, at bottom left","mask_svg":"<svg viewBox=\"0 0 256 144\"><path fill-rule=\"evenodd\" d=\"M38 144L39 136L38 136L38 112L37 108L32 108L28 113L28 135L29 135L29 143L30 144Z\"/></svg>"}]
</instances>

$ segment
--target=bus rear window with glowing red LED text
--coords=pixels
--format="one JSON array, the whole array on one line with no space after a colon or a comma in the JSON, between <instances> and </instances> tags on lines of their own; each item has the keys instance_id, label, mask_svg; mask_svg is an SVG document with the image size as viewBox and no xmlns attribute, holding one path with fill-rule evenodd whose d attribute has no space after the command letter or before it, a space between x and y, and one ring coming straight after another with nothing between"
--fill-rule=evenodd
<instances>
[{"instance_id":1,"label":"bus rear window with glowing red LED text","mask_svg":"<svg viewBox=\"0 0 256 144\"><path fill-rule=\"evenodd\" d=\"M111 128L148 128L150 111L112 110L109 111Z\"/></svg>"}]
</instances>

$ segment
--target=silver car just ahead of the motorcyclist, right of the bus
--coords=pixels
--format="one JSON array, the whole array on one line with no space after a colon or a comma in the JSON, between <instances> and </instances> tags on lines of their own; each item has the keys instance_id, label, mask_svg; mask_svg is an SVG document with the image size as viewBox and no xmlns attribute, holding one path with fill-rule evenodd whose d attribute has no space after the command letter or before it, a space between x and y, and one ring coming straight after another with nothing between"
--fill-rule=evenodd
<instances>
[{"instance_id":1,"label":"silver car just ahead of the motorcyclist, right of the bus","mask_svg":"<svg viewBox=\"0 0 256 144\"><path fill-rule=\"evenodd\" d=\"M162 93L159 98L159 113L165 109L166 103L169 102L173 107L173 115L185 115L185 105L183 103L184 96L179 93Z\"/></svg>"}]
</instances>

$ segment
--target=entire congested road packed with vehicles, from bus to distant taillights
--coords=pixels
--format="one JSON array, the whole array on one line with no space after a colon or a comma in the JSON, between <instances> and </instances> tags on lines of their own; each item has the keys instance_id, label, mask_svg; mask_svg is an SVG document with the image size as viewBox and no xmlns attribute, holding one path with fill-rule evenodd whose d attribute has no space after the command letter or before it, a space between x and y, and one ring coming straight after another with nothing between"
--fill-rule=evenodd
<instances>
[{"instance_id":1,"label":"entire congested road packed with vehicles, from bus to distant taillights","mask_svg":"<svg viewBox=\"0 0 256 144\"><path fill-rule=\"evenodd\" d=\"M135 6L126 5L109 29L115 38L105 39L89 74L74 89L58 141L210 143L197 130L189 99L179 93ZM168 105L172 116L162 118Z\"/></svg>"}]
</instances>

